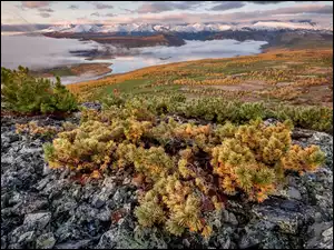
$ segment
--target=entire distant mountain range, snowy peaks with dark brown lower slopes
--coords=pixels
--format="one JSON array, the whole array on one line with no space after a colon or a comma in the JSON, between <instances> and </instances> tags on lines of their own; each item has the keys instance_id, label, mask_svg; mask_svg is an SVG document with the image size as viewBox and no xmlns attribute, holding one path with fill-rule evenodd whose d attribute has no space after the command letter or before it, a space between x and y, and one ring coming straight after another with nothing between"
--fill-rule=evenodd
<instances>
[{"instance_id":1,"label":"entire distant mountain range, snowy peaks with dark brown lower slopes","mask_svg":"<svg viewBox=\"0 0 334 250\"><path fill-rule=\"evenodd\" d=\"M332 28L332 29L331 29ZM194 23L194 24L66 24L49 27L42 32L51 38L92 40L127 48L151 46L183 46L185 40L234 39L237 41L267 41L275 46L308 46L314 41L333 43L333 24L323 29L307 21L257 21L250 24ZM301 40L302 39L302 40ZM305 43L305 41L307 42Z\"/></svg>"}]
</instances>

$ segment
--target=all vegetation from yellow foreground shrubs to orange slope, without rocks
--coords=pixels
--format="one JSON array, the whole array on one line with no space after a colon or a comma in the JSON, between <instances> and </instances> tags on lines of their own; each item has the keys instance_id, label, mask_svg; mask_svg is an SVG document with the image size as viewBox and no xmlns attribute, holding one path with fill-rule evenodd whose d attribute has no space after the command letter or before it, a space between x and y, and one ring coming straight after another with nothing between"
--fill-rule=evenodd
<instances>
[{"instance_id":1,"label":"all vegetation from yellow foreground shrubs to orange slope, without rocks","mask_svg":"<svg viewBox=\"0 0 334 250\"><path fill-rule=\"evenodd\" d=\"M29 123L17 130L51 134L43 146L51 168L88 179L129 172L139 190L138 222L175 236L189 230L207 238L209 213L224 209L226 199L263 202L287 174L315 171L325 154L294 144L294 127L333 130L330 50L150 67L68 86L72 94L60 81L33 81L26 69L2 71L8 89L39 82L33 100L2 92L13 111L72 111L75 97L102 102L99 111L81 108L79 126L56 131ZM45 96L39 84L52 91Z\"/></svg>"}]
</instances>

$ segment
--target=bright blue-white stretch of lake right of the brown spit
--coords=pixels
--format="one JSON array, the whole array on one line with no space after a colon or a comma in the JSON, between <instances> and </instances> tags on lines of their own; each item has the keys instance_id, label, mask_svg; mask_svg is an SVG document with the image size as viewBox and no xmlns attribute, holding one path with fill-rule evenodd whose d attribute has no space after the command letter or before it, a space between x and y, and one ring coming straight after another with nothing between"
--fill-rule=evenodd
<instances>
[{"instance_id":1,"label":"bright blue-white stretch of lake right of the brown spit","mask_svg":"<svg viewBox=\"0 0 334 250\"><path fill-rule=\"evenodd\" d=\"M149 66L166 64L171 62L200 60L209 58L230 58L237 56L255 54L261 52L265 41L213 40L186 41L181 47L151 47L139 49L135 57L118 57L112 60L96 60L112 62L114 73L125 73ZM161 60L163 59L163 60Z\"/></svg>"}]
</instances>

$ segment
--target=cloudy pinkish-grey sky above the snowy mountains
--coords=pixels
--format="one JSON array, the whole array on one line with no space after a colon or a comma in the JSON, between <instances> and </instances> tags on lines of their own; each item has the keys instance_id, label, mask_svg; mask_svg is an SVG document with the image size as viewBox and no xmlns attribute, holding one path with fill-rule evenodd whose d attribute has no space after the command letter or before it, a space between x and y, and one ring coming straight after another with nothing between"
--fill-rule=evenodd
<instances>
[{"instance_id":1,"label":"cloudy pinkish-grey sky above the snowy mountains","mask_svg":"<svg viewBox=\"0 0 334 250\"><path fill-rule=\"evenodd\" d=\"M1 24L244 23L265 20L333 24L333 1L1 1Z\"/></svg>"}]
</instances>

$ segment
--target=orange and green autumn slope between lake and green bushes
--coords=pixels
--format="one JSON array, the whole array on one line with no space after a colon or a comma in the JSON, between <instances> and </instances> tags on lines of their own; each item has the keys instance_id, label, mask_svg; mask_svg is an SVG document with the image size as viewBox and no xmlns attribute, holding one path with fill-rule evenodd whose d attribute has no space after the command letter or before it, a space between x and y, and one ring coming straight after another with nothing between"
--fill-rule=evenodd
<instances>
[{"instance_id":1,"label":"orange and green autumn slope between lake and green bushes","mask_svg":"<svg viewBox=\"0 0 334 250\"><path fill-rule=\"evenodd\" d=\"M333 107L333 50L269 50L257 56L206 59L157 67L69 84L82 100L120 92L181 92L296 106Z\"/></svg>"}]
</instances>

